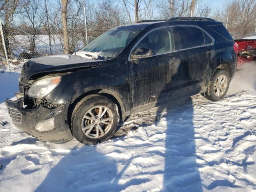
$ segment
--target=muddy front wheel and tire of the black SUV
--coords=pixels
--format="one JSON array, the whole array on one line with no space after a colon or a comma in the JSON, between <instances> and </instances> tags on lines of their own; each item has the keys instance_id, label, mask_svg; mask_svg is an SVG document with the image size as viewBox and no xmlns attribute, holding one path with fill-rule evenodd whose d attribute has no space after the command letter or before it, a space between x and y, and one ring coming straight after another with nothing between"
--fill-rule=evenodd
<instances>
[{"instance_id":1,"label":"muddy front wheel and tire of the black SUV","mask_svg":"<svg viewBox=\"0 0 256 192\"><path fill-rule=\"evenodd\" d=\"M101 106L102 114L105 109L106 112L102 118L97 118ZM105 120L107 118L110 120ZM101 95L89 95L76 104L71 117L71 131L79 142L85 145L94 145L111 138L116 132L118 121L118 107L112 100Z\"/></svg>"}]
</instances>

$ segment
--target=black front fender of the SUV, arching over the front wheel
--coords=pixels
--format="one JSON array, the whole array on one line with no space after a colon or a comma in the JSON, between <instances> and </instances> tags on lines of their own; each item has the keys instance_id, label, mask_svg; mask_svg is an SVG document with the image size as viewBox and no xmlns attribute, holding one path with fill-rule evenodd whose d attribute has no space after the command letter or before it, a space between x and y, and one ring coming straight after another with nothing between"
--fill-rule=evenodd
<instances>
[{"instance_id":1,"label":"black front fender of the SUV, arching over the front wheel","mask_svg":"<svg viewBox=\"0 0 256 192\"><path fill-rule=\"evenodd\" d=\"M64 104L88 94L109 94L119 103L124 115L130 107L127 73L127 70L120 68L90 68L67 74L62 76L60 84L45 99L51 104Z\"/></svg>"}]
</instances>

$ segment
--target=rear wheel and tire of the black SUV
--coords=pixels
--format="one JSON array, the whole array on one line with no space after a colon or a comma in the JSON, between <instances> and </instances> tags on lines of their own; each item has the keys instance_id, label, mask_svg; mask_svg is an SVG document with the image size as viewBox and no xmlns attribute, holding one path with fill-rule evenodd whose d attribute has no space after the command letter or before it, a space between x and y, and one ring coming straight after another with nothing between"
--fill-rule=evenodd
<instances>
[{"instance_id":1,"label":"rear wheel and tire of the black SUV","mask_svg":"<svg viewBox=\"0 0 256 192\"><path fill-rule=\"evenodd\" d=\"M225 81L224 81L224 77L226 77ZM223 83L218 84L219 80L221 80L221 82L223 81ZM217 86L214 89L214 86L216 84ZM202 95L206 99L211 101L222 100L226 96L226 93L228 92L229 84L230 84L230 75L228 74L228 72L223 69L218 69L212 76L210 82L208 83L206 92L202 93ZM219 89L219 95L218 95L218 89Z\"/></svg>"}]
</instances>

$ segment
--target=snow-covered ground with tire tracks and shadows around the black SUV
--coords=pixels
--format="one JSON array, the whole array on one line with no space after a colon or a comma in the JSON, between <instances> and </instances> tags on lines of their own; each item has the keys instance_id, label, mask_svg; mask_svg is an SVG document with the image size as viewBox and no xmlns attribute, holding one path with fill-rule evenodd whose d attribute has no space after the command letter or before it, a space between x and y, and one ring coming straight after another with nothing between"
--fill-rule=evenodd
<instances>
[{"instance_id":1,"label":"snow-covered ground with tire tracks and shadows around the black SUV","mask_svg":"<svg viewBox=\"0 0 256 192\"><path fill-rule=\"evenodd\" d=\"M18 90L18 74L0 73L1 192L256 191L255 71L250 80L238 71L224 100L198 95L136 114L123 128L137 129L96 146L42 142L15 128L4 99Z\"/></svg>"}]
</instances>

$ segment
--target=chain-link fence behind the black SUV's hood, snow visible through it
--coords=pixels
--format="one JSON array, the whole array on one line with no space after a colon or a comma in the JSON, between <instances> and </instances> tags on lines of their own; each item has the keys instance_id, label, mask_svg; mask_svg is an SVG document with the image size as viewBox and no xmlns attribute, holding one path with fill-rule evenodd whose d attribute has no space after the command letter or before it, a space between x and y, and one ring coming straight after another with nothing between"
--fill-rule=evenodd
<instances>
[{"instance_id":1,"label":"chain-link fence behind the black SUV's hood, snow visible through it","mask_svg":"<svg viewBox=\"0 0 256 192\"><path fill-rule=\"evenodd\" d=\"M17 27L2 21L4 41L8 52L9 62L20 64L31 58L61 54L63 52L62 30L56 28ZM93 40L108 28L88 30L88 40ZM84 25L68 30L69 50L74 52L86 45L86 30ZM5 63L4 48L0 44L1 59Z\"/></svg>"}]
</instances>

